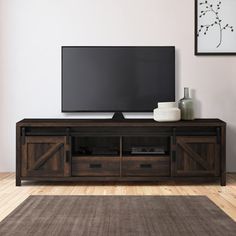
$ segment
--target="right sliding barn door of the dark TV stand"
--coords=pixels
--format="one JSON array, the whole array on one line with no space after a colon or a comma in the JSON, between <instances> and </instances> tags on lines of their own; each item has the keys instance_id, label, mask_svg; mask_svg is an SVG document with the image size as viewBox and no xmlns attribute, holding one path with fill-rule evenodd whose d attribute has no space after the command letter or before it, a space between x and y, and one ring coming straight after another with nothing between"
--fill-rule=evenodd
<instances>
[{"instance_id":1,"label":"right sliding barn door of the dark TV stand","mask_svg":"<svg viewBox=\"0 0 236 236\"><path fill-rule=\"evenodd\" d=\"M216 137L176 137L174 176L219 176L219 144Z\"/></svg>"}]
</instances>

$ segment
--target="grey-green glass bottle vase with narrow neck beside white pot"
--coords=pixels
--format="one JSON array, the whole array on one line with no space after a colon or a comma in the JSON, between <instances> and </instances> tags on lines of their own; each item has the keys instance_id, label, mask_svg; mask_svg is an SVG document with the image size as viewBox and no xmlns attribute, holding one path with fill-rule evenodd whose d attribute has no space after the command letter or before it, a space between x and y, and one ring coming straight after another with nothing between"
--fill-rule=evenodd
<instances>
[{"instance_id":1,"label":"grey-green glass bottle vase with narrow neck beside white pot","mask_svg":"<svg viewBox=\"0 0 236 236\"><path fill-rule=\"evenodd\" d=\"M194 120L193 99L189 97L189 88L184 88L184 98L179 100L182 120Z\"/></svg>"}]
</instances>

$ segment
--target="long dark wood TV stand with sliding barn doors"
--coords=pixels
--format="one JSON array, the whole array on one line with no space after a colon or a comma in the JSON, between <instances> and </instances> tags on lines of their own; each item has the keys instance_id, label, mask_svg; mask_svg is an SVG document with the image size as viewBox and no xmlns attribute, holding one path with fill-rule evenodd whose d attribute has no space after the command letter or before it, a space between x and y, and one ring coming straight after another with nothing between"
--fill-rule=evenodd
<instances>
[{"instance_id":1,"label":"long dark wood TV stand with sliding barn doors","mask_svg":"<svg viewBox=\"0 0 236 236\"><path fill-rule=\"evenodd\" d=\"M16 185L22 180L220 180L224 186L225 134L226 123L219 119L24 119L16 124Z\"/></svg>"}]
</instances>

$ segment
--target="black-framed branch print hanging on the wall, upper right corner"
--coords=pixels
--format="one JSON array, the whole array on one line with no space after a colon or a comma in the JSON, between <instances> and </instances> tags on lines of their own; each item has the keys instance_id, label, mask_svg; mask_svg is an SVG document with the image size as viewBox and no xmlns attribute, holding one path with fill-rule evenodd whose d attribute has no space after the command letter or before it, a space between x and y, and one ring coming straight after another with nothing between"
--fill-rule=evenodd
<instances>
[{"instance_id":1,"label":"black-framed branch print hanging on the wall, upper right corner","mask_svg":"<svg viewBox=\"0 0 236 236\"><path fill-rule=\"evenodd\" d=\"M195 55L236 55L236 0L195 0Z\"/></svg>"}]
</instances>

